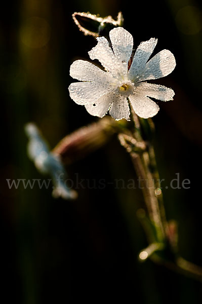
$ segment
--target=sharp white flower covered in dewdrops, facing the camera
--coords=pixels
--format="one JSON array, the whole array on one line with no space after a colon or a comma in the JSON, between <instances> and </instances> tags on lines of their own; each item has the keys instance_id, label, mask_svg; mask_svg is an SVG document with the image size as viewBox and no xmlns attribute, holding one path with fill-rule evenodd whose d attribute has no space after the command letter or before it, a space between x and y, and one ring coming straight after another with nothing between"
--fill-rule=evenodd
<instances>
[{"instance_id":1,"label":"sharp white flower covered in dewdrops, facing the camera","mask_svg":"<svg viewBox=\"0 0 202 304\"><path fill-rule=\"evenodd\" d=\"M139 45L129 68L132 35L123 27L117 27L109 32L109 37L112 48L105 37L98 37L97 46L89 52L90 58L98 59L105 70L84 60L76 60L70 66L71 77L83 81L69 86L70 97L98 117L103 117L109 110L115 120L129 120L128 101L138 116L153 117L159 107L149 97L168 101L175 93L145 80L170 74L176 65L174 55L163 50L148 61L157 43L157 39L151 38Z\"/></svg>"}]
</instances>

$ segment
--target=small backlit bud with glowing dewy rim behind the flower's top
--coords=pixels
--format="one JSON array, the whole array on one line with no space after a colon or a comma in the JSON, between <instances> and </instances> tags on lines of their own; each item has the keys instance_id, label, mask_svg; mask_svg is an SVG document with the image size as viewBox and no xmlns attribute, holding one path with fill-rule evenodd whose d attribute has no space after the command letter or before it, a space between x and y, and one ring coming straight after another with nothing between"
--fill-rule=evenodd
<instances>
[{"instance_id":1,"label":"small backlit bud with glowing dewy rim behind the flower's top","mask_svg":"<svg viewBox=\"0 0 202 304\"><path fill-rule=\"evenodd\" d=\"M118 13L117 20L112 19L111 16L101 18L99 15L92 15L90 13L73 13L72 17L80 31L85 35L92 35L94 37L108 36L112 28L123 26L124 23L121 12Z\"/></svg>"}]
</instances>

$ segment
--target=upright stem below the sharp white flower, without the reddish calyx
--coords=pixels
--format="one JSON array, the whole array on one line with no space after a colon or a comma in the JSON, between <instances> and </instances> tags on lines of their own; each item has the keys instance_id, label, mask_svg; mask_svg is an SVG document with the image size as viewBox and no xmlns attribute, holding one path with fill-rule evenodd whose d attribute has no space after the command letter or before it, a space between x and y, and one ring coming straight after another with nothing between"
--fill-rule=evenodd
<instances>
[{"instance_id":1,"label":"upright stem below the sharp white flower, without the reddish calyx","mask_svg":"<svg viewBox=\"0 0 202 304\"><path fill-rule=\"evenodd\" d=\"M172 235L171 227L166 220L166 213L163 203L163 195L159 184L159 174L157 170L155 153L153 145L150 141L146 142L142 138L141 124L137 115L132 112L135 123L134 137L127 134L119 134L120 143L126 148L131 156L135 171L141 178L142 192L149 214L149 218L155 224L156 235L159 243L151 243L146 249L139 254L141 261L151 258L154 262L163 264L165 267L192 277L202 282L202 268L186 261L182 257L177 257L174 261L167 258L159 257L155 254L158 250L164 250L167 245L170 245L170 250L176 254L177 244L176 234ZM151 120L147 121L150 131L154 130L154 125ZM141 148L142 149L141 149ZM143 216L144 217L144 216ZM148 228L148 227L147 227ZM149 233L149 239L152 239L152 234ZM167 242L169 240L169 242Z\"/></svg>"}]
</instances>

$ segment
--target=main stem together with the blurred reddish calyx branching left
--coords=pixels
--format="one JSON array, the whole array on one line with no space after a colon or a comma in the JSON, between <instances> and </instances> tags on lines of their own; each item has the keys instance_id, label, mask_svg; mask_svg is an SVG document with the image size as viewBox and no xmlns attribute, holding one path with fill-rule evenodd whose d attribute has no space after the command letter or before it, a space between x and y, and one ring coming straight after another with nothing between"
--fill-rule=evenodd
<instances>
[{"instance_id":1,"label":"main stem together with the blurred reddish calyx branching left","mask_svg":"<svg viewBox=\"0 0 202 304\"><path fill-rule=\"evenodd\" d=\"M119 142L130 154L135 171L140 178L141 189L149 215L146 230L150 245L140 252L139 259L143 261L151 258L155 263L162 264L170 270L201 281L202 269L176 255L176 225L168 224L166 220L163 196L159 188L159 175L154 149L149 140L143 140L142 125L134 112L133 120L135 123L134 133L129 130L127 122L116 122L110 117L105 117L97 123L80 128L64 137L53 149L52 153L60 156L63 163L71 163L100 148L113 134L118 134ZM151 121L149 124L151 124ZM153 128L153 125L151 125L151 128ZM170 246L173 254L173 259L171 260L158 254L158 252L168 249L168 246Z\"/></svg>"}]
</instances>

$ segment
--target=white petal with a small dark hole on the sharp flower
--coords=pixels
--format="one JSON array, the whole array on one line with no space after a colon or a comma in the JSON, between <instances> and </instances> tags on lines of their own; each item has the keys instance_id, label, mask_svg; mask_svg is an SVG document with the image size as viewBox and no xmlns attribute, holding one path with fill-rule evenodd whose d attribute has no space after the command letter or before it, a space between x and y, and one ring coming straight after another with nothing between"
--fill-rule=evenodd
<instances>
[{"instance_id":1,"label":"white petal with a small dark hole on the sharp flower","mask_svg":"<svg viewBox=\"0 0 202 304\"><path fill-rule=\"evenodd\" d=\"M112 104L113 95L113 93L106 94L98 98L95 102L85 105L87 111L93 116L105 116Z\"/></svg>"}]
</instances>

